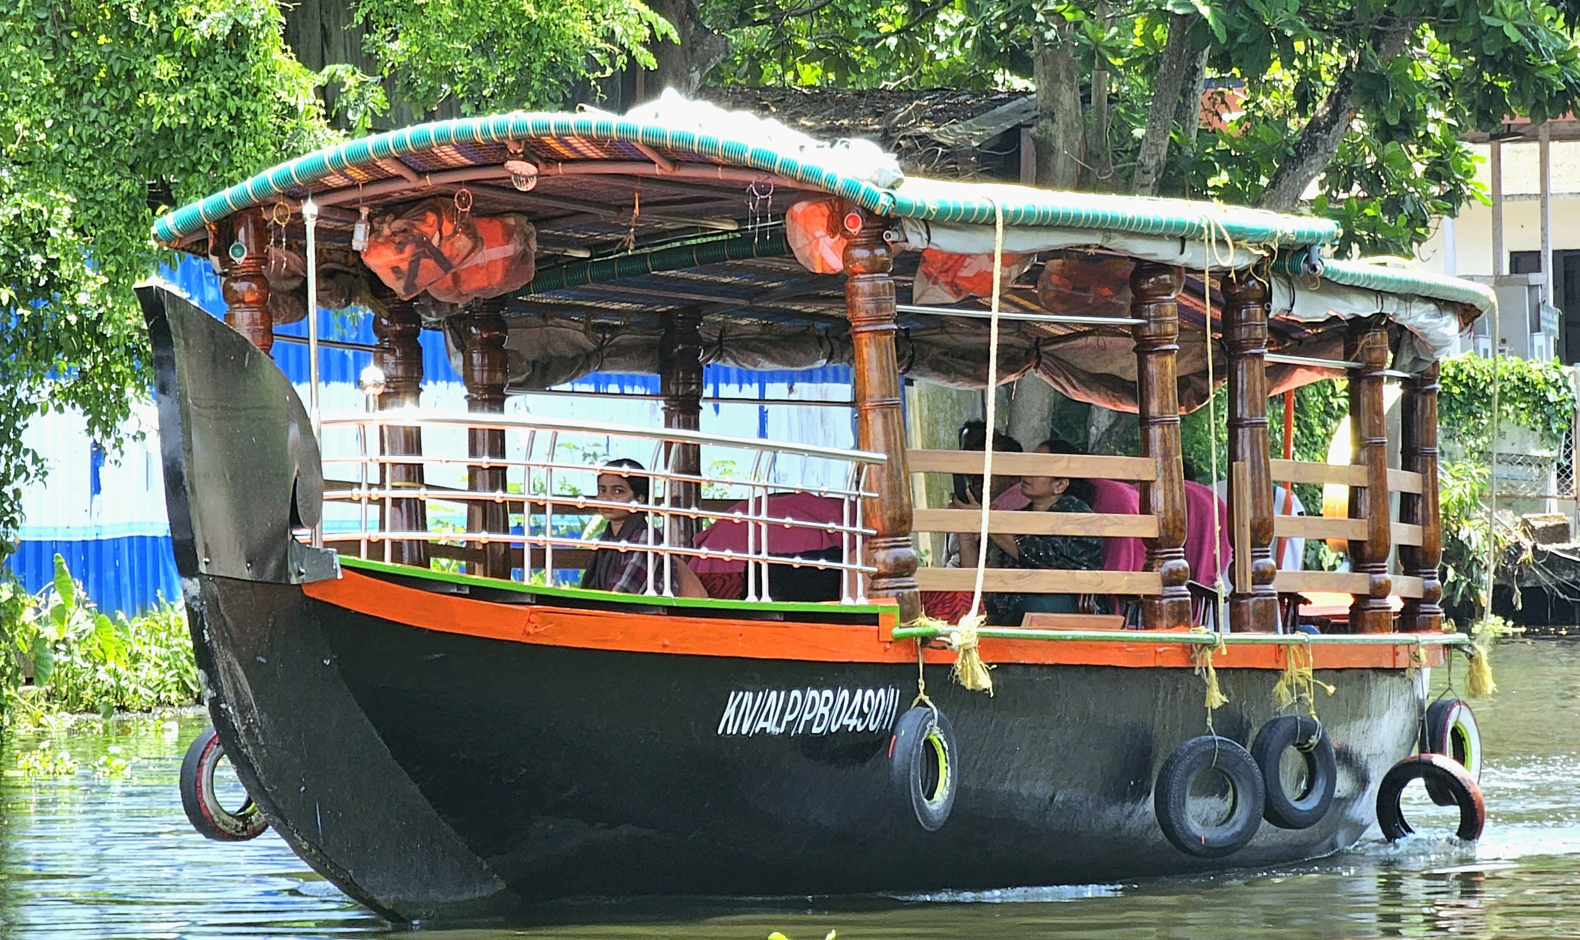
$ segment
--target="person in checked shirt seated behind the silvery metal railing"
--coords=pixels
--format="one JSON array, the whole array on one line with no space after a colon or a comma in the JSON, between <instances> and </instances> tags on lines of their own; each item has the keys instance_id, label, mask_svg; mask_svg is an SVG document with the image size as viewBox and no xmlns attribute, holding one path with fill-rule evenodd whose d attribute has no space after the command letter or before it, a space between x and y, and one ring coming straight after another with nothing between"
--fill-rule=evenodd
<instances>
[{"instance_id":1,"label":"person in checked shirt seated behind the silvery metal railing","mask_svg":"<svg viewBox=\"0 0 1580 940\"><path fill-rule=\"evenodd\" d=\"M626 551L618 548L599 548L592 551L592 561L581 572L581 586L594 591L615 591L616 594L648 592L648 513L635 509L648 504L649 477L635 460L611 460L604 464L597 476L597 498L607 502L629 502L632 509L605 506L599 509L604 517L604 542L621 542L630 545ZM662 545L662 537L654 537L656 545ZM664 559L653 556L657 566L653 572L653 588L664 592ZM692 573L681 556L670 559L670 591L679 597L706 597L702 581Z\"/></svg>"}]
</instances>

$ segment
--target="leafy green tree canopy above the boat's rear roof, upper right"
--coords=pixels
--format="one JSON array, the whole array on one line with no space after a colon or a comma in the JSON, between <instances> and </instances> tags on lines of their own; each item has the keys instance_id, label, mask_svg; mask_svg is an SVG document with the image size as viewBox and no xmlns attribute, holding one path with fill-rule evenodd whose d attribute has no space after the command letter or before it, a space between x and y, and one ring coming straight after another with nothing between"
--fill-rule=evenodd
<instances>
[{"instance_id":1,"label":"leafy green tree canopy above the boat's rear roof, upper right","mask_svg":"<svg viewBox=\"0 0 1580 940\"><path fill-rule=\"evenodd\" d=\"M1479 197L1466 131L1512 114L1545 120L1580 95L1572 3L703 0L703 11L735 39L716 81L1041 79L1049 120L1071 101L1082 112L1051 142L1079 155L1082 188L1289 210L1316 182L1316 212L1343 223L1349 245L1397 254L1430 235L1435 215ZM1040 57L1060 55L1076 68L1038 74ZM1218 96L1218 126L1193 128L1202 74L1234 90ZM1060 96L1060 79L1078 87ZM1092 107L1093 87L1106 107ZM1138 169L1149 149L1168 153L1155 183Z\"/></svg>"}]
</instances>

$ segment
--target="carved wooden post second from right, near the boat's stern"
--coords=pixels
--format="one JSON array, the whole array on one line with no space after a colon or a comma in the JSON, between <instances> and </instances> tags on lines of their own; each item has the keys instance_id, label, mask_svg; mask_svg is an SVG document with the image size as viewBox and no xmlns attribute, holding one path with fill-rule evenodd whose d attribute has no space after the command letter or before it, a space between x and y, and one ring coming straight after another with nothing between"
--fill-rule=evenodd
<instances>
[{"instance_id":1,"label":"carved wooden post second from right, near the boat's stern","mask_svg":"<svg viewBox=\"0 0 1580 940\"><path fill-rule=\"evenodd\" d=\"M1349 570L1370 578L1370 591L1349 605L1349 632L1387 634L1394 613L1387 597L1394 578L1387 570L1392 518L1387 498L1387 427L1382 417L1382 370L1387 368L1387 330L1370 321L1352 321L1345 337L1349 370L1349 442L1352 463L1367 471L1365 487L1349 488L1349 518L1365 520L1365 540L1349 540Z\"/></svg>"}]
</instances>

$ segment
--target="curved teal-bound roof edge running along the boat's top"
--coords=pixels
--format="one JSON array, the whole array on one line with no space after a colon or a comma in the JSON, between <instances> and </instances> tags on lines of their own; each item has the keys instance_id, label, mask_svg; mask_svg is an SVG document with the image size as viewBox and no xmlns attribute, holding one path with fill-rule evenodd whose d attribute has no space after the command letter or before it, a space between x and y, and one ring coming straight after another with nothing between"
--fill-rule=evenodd
<instances>
[{"instance_id":1,"label":"curved teal-bound roof edge running along the boat's top","mask_svg":"<svg viewBox=\"0 0 1580 940\"><path fill-rule=\"evenodd\" d=\"M212 223L292 191L305 190L329 196L327 202L340 202L374 191L417 191L441 182L498 174L502 172L498 147L529 142L542 144L540 150L561 158L540 166L540 175L626 174L697 182L777 177L902 220L984 226L991 231L995 213L1002 212L1005 226L1021 231L1117 232L1278 250L1283 253L1278 265L1291 275L1300 273L1296 269L1304 262L1304 253L1330 245L1340 234L1337 223L1329 220L1183 199L921 179L882 186L858 175L861 161L852 160L841 147L798 147L792 152L599 112L510 112L416 125L299 156L160 216L153 239L166 246L180 246ZM477 145L491 145L493 153L471 150ZM431 160L436 153L441 158ZM401 158L444 169L416 171ZM1482 311L1495 305L1492 291L1480 284L1416 270L1329 262L1319 276L1390 294L1468 303Z\"/></svg>"}]
</instances>

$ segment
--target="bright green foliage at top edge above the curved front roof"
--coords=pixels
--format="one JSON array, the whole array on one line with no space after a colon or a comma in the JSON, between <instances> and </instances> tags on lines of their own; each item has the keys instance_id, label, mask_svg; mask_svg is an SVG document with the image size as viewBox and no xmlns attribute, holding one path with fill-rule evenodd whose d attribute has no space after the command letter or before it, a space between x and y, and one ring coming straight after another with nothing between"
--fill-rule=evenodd
<instances>
[{"instance_id":1,"label":"bright green foliage at top edge above the curved front roof","mask_svg":"<svg viewBox=\"0 0 1580 940\"><path fill-rule=\"evenodd\" d=\"M637 62L675 28L641 0L356 0L365 49L403 100L463 114L566 104L577 82Z\"/></svg>"}]
</instances>

